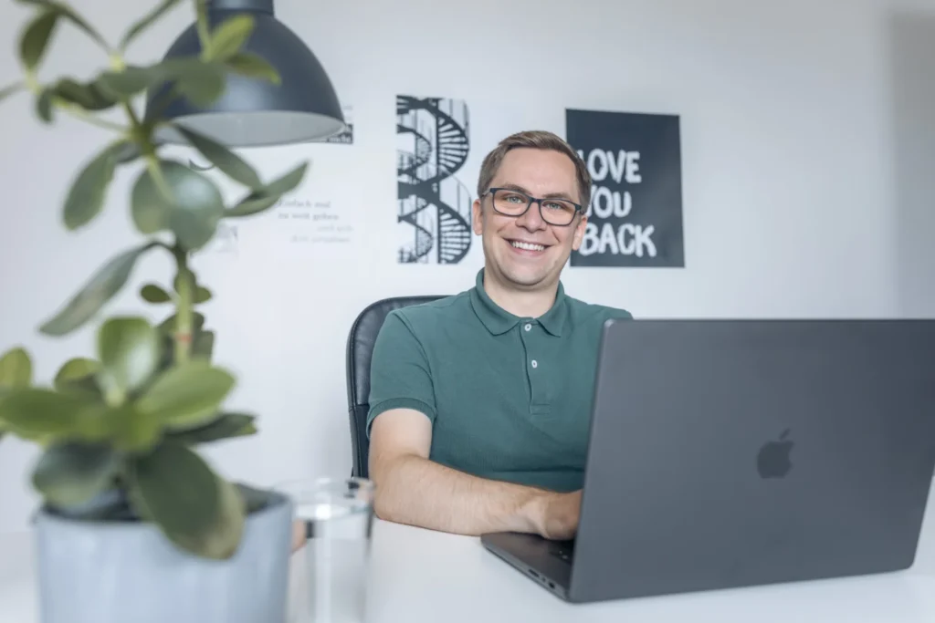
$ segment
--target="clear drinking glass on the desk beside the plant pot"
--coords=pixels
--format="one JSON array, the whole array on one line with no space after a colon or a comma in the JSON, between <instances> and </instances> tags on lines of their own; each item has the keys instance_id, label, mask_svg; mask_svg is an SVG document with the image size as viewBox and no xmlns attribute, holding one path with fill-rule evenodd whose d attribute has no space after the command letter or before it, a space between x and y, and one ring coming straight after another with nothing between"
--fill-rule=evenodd
<instances>
[{"instance_id":1,"label":"clear drinking glass on the desk beside the plant pot","mask_svg":"<svg viewBox=\"0 0 935 623\"><path fill-rule=\"evenodd\" d=\"M283 483L305 540L293 554L295 623L364 623L373 483L319 478Z\"/></svg>"}]
</instances>

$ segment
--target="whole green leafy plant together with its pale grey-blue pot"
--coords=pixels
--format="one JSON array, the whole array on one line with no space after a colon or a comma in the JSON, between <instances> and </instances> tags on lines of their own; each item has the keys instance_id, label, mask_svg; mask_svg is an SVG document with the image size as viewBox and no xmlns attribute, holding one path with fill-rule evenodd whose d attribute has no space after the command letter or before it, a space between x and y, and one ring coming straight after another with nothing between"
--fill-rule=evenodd
<instances>
[{"instance_id":1,"label":"whole green leafy plant together with its pale grey-blue pot","mask_svg":"<svg viewBox=\"0 0 935 623\"><path fill-rule=\"evenodd\" d=\"M111 46L73 8L19 0L34 14L19 41L21 82L0 98L31 94L36 115L53 124L73 115L113 132L113 139L70 182L62 207L68 231L91 223L108 202L117 174L135 176L129 209L143 240L116 253L39 332L58 337L94 323L96 350L65 361L47 385L33 378L30 356L7 345L0 357L0 436L41 449L31 474L41 496L36 513L40 612L45 623L272 623L284 620L292 505L273 491L216 474L196 446L256 432L254 417L224 409L235 377L212 361L214 333L197 305L211 292L190 261L223 219L276 205L305 175L302 163L264 181L237 154L177 127L218 172L242 189L225 203L209 177L162 155L154 133L174 98L209 106L235 73L277 81L264 59L241 48L252 19L209 24L194 0L202 51L149 65L128 64L137 35L179 0L163 0ZM89 80L41 80L37 70L62 26L77 27L107 52ZM137 97L161 92L146 114ZM123 123L101 113L120 112ZM101 318L136 262L166 253L175 263L165 284L145 285L142 299L171 308L165 319ZM158 322L158 323L157 323ZM2 442L0 442L2 444ZM0 446L2 447L2 446Z\"/></svg>"}]
</instances>

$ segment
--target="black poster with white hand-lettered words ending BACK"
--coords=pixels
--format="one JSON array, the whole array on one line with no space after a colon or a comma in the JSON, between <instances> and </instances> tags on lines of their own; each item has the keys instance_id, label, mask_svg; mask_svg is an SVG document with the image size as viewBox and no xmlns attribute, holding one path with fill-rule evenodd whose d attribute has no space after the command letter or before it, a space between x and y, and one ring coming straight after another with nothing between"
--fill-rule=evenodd
<instances>
[{"instance_id":1,"label":"black poster with white hand-lettered words ending BACK","mask_svg":"<svg viewBox=\"0 0 935 623\"><path fill-rule=\"evenodd\" d=\"M683 267L678 116L568 109L565 122L593 182L571 265Z\"/></svg>"}]
</instances>

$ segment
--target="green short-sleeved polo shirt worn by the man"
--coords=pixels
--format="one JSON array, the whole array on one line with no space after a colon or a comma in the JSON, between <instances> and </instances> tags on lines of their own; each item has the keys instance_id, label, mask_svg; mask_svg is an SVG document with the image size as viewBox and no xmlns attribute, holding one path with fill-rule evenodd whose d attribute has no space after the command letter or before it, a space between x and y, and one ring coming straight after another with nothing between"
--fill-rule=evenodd
<instances>
[{"instance_id":1,"label":"green short-sleeved polo shirt worn by the man","mask_svg":"<svg viewBox=\"0 0 935 623\"><path fill-rule=\"evenodd\" d=\"M539 318L471 290L391 312L374 345L367 429L384 411L432 422L429 459L483 478L582 487L604 321L629 312L565 294Z\"/></svg>"}]
</instances>

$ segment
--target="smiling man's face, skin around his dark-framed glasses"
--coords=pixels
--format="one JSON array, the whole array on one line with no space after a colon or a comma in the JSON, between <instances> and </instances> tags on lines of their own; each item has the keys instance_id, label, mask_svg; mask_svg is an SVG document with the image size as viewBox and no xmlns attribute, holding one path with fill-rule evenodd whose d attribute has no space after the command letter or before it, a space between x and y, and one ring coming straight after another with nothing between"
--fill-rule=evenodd
<instances>
[{"instance_id":1,"label":"smiling man's face, skin around his dark-framed glasses","mask_svg":"<svg viewBox=\"0 0 935 623\"><path fill-rule=\"evenodd\" d=\"M490 186L581 204L574 164L553 150L511 149ZM490 194L473 205L474 233L482 235L489 271L520 290L547 288L558 281L571 251L581 246L585 220L579 213L565 227L551 225L542 220L535 202L521 217L504 216L494 211ZM526 248L516 243L525 243ZM529 244L539 247L528 248Z\"/></svg>"}]
</instances>

